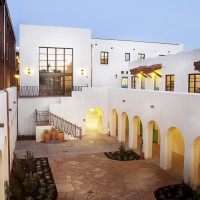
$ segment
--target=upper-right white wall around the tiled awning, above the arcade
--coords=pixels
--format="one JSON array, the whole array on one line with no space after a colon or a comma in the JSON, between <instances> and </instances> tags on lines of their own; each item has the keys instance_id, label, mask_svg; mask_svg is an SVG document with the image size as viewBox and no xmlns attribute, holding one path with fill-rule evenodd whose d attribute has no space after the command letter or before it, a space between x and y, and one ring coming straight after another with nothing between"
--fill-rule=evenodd
<instances>
[{"instance_id":1,"label":"upper-right white wall around the tiled awning, above the arcade","mask_svg":"<svg viewBox=\"0 0 200 200\"><path fill-rule=\"evenodd\" d=\"M175 55L167 55L162 57L156 57L147 60L134 61L129 63L129 70L137 68L139 66L151 66L153 64L162 64L160 78L160 91L165 91L166 75L175 75L175 92L188 92L188 74L199 73L194 70L194 62L200 60L200 50L194 50L191 52L181 52ZM131 76L129 76L131 79ZM140 89L140 78L136 78L136 88ZM153 78L145 79L145 86L147 90L154 90ZM131 88L131 84L129 84Z\"/></svg>"}]
</instances>

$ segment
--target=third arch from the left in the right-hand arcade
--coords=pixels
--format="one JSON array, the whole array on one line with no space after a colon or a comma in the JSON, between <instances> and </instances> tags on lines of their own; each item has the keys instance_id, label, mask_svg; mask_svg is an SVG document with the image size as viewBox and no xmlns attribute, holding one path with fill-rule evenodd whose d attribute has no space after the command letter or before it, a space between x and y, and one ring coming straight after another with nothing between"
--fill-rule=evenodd
<instances>
[{"instance_id":1,"label":"third arch from the left in the right-hand arcade","mask_svg":"<svg viewBox=\"0 0 200 200\"><path fill-rule=\"evenodd\" d=\"M142 148L143 127L141 119L138 116L133 118L133 148L140 152Z\"/></svg>"}]
</instances>

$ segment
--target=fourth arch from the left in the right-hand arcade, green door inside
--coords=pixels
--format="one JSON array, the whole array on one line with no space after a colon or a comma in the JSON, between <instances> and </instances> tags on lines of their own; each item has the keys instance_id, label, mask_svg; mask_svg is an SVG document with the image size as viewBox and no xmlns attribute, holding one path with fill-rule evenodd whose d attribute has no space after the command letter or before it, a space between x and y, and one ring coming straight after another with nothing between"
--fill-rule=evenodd
<instances>
[{"instance_id":1,"label":"fourth arch from the left in the right-hand arcade, green door inside","mask_svg":"<svg viewBox=\"0 0 200 200\"><path fill-rule=\"evenodd\" d=\"M160 163L160 128L155 121L148 123L148 157Z\"/></svg>"}]
</instances>

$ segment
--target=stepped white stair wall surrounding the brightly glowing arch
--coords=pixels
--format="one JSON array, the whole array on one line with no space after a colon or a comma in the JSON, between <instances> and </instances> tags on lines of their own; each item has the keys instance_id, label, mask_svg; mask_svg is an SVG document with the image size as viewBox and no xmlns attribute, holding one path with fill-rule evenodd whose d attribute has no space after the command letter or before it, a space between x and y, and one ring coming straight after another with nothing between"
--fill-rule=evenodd
<instances>
[{"instance_id":1,"label":"stepped white stair wall surrounding the brightly glowing arch","mask_svg":"<svg viewBox=\"0 0 200 200\"><path fill-rule=\"evenodd\" d=\"M72 97L61 97L61 104L51 104L50 111L67 121L82 127L85 134L86 114L91 108L103 112L103 132L107 131L108 88L83 88L82 92L73 92Z\"/></svg>"}]
</instances>

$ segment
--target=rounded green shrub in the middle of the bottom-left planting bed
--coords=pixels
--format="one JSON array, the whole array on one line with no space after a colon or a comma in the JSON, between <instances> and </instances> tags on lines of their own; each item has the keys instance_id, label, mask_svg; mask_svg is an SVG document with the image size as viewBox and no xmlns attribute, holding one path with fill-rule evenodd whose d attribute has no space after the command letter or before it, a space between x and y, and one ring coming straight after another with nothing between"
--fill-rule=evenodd
<instances>
[{"instance_id":1,"label":"rounded green shrub in the middle of the bottom-left planting bed","mask_svg":"<svg viewBox=\"0 0 200 200\"><path fill-rule=\"evenodd\" d=\"M38 180L39 180L39 175L37 173L30 172L28 174L25 174L25 179L23 182L25 191L27 193L32 193L37 187Z\"/></svg>"}]
</instances>

